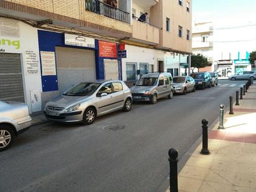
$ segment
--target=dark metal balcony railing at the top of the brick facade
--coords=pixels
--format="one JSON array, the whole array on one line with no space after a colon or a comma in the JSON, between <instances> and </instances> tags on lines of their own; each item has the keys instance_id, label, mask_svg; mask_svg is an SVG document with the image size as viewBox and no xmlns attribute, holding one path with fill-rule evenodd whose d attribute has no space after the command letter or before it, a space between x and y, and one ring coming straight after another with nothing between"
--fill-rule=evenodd
<instances>
[{"instance_id":1,"label":"dark metal balcony railing at the top of the brick facade","mask_svg":"<svg viewBox=\"0 0 256 192\"><path fill-rule=\"evenodd\" d=\"M91 11L101 16L110 17L118 21L130 23L129 12L122 11L98 0L85 0L86 11Z\"/></svg>"}]
</instances>

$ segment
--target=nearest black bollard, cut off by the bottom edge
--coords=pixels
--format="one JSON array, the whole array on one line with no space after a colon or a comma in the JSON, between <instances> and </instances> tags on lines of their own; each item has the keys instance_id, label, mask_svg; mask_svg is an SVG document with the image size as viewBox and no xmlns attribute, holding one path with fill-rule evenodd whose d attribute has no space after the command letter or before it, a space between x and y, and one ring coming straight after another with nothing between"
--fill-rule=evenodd
<instances>
[{"instance_id":1,"label":"nearest black bollard, cut off by the bottom edge","mask_svg":"<svg viewBox=\"0 0 256 192\"><path fill-rule=\"evenodd\" d=\"M176 149L169 149L170 162L170 192L178 192L178 152Z\"/></svg>"}]
</instances>

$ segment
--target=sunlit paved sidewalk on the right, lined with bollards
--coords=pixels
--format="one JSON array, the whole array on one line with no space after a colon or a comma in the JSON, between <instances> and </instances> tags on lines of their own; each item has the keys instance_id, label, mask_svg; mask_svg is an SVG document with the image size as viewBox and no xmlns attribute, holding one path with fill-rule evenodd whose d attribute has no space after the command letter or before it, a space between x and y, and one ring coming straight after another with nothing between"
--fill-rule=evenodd
<instances>
[{"instance_id":1,"label":"sunlit paved sidewalk on the right, lined with bollards","mask_svg":"<svg viewBox=\"0 0 256 192\"><path fill-rule=\"evenodd\" d=\"M191 154L178 175L179 191L256 191L256 85L226 112L224 127L209 130L210 155L201 155L202 144ZM168 180L168 179L167 179ZM170 191L165 181L160 189Z\"/></svg>"}]
</instances>

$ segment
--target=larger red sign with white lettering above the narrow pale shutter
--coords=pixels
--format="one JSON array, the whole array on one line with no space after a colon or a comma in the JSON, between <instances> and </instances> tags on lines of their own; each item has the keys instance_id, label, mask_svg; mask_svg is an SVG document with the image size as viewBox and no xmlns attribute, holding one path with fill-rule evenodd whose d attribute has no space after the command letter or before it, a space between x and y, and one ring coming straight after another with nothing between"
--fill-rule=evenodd
<instances>
[{"instance_id":1,"label":"larger red sign with white lettering above the narrow pale shutter","mask_svg":"<svg viewBox=\"0 0 256 192\"><path fill-rule=\"evenodd\" d=\"M99 57L117 58L116 43L99 40Z\"/></svg>"}]
</instances>

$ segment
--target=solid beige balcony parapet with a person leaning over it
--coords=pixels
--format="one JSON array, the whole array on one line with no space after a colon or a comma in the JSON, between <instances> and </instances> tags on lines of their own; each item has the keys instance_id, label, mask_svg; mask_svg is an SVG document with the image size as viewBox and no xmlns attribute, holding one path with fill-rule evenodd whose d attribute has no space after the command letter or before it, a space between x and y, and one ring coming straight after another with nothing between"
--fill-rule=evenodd
<instances>
[{"instance_id":1,"label":"solid beige balcony parapet with a person leaning over it","mask_svg":"<svg viewBox=\"0 0 256 192\"><path fill-rule=\"evenodd\" d=\"M159 44L160 28L150 25L147 22L132 20L132 38L135 42L146 43L148 45Z\"/></svg>"}]
</instances>

